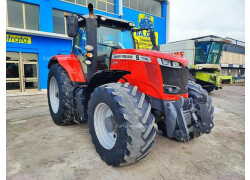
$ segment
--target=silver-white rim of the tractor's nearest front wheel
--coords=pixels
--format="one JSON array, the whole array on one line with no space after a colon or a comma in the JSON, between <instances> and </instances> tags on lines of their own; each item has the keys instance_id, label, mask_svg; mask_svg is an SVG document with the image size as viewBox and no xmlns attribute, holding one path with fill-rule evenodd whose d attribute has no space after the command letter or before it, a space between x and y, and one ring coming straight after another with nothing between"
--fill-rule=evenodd
<instances>
[{"instance_id":1,"label":"silver-white rim of the tractor's nearest front wheel","mask_svg":"<svg viewBox=\"0 0 250 180\"><path fill-rule=\"evenodd\" d=\"M105 103L99 103L94 112L96 136L105 149L112 149L117 139L114 115ZM111 128L112 126L112 128Z\"/></svg>"}]
</instances>

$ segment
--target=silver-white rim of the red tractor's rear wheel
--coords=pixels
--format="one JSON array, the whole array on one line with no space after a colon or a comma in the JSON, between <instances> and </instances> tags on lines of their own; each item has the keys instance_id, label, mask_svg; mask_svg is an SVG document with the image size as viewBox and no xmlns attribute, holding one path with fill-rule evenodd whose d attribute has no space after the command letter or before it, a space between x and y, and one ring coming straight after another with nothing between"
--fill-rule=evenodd
<instances>
[{"instance_id":1,"label":"silver-white rim of the red tractor's rear wheel","mask_svg":"<svg viewBox=\"0 0 250 180\"><path fill-rule=\"evenodd\" d=\"M59 109L59 90L58 85L55 77L50 79L49 83L49 98L50 98L50 105L54 113L57 113Z\"/></svg>"}]
</instances>

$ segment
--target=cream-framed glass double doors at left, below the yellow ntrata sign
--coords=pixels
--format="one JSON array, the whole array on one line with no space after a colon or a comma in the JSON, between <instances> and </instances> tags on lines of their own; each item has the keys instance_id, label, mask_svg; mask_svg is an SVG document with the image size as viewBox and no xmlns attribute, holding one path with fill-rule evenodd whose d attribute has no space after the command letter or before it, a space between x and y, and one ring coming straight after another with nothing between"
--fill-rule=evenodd
<instances>
[{"instance_id":1,"label":"cream-framed glass double doors at left, below the yellow ntrata sign","mask_svg":"<svg viewBox=\"0 0 250 180\"><path fill-rule=\"evenodd\" d=\"M6 89L22 92L39 89L37 54L6 53Z\"/></svg>"}]
</instances>

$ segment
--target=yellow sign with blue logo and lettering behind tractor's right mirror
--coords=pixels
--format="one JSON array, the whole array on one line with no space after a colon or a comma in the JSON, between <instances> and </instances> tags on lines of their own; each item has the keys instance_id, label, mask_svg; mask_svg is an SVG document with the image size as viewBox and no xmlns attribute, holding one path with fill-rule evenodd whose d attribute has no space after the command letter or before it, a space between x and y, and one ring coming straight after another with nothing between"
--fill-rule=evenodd
<instances>
[{"instance_id":1,"label":"yellow sign with blue logo and lettering behind tractor's right mirror","mask_svg":"<svg viewBox=\"0 0 250 180\"><path fill-rule=\"evenodd\" d=\"M145 14L139 14L139 28L153 28L154 27L154 17ZM156 44L158 44L158 32L155 32ZM153 45L150 40L150 31L138 31L134 32L136 49L149 49L151 50Z\"/></svg>"}]
</instances>

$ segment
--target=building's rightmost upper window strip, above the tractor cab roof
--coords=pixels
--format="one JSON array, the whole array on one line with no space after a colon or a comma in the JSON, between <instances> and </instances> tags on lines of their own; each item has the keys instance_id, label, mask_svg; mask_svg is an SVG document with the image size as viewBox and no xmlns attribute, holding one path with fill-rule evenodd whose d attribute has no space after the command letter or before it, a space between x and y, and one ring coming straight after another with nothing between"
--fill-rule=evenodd
<instances>
[{"instance_id":1,"label":"building's rightmost upper window strip, above the tractor cab roof","mask_svg":"<svg viewBox=\"0 0 250 180\"><path fill-rule=\"evenodd\" d=\"M125 7L162 17L162 3L160 0L123 0Z\"/></svg>"}]
</instances>

